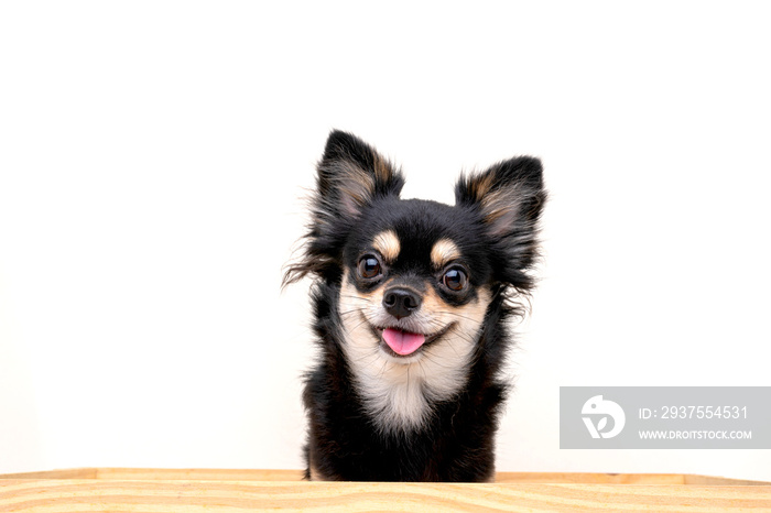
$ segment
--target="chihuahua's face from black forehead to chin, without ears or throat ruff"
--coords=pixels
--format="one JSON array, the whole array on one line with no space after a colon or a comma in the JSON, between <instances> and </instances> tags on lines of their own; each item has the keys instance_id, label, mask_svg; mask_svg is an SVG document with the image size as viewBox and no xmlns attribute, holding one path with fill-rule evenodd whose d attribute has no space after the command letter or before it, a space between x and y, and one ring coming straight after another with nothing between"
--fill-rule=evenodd
<instances>
[{"instance_id":1,"label":"chihuahua's face from black forehead to chin, without ears or throat ruff","mask_svg":"<svg viewBox=\"0 0 771 513\"><path fill-rule=\"evenodd\" d=\"M455 214L420 200L370 206L344 249L340 315L360 321L355 343L409 364L434 346L459 350L458 337L476 338L490 297L489 266L475 261Z\"/></svg>"}]
</instances>

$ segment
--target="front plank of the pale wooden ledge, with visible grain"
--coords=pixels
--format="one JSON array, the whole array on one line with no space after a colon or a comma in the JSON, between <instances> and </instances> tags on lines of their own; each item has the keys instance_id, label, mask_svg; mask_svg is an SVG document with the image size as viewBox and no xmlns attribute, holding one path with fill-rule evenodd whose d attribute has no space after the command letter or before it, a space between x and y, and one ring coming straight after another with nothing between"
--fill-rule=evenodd
<instances>
[{"instance_id":1,"label":"front plank of the pale wooden ledge, with visible grain","mask_svg":"<svg viewBox=\"0 0 771 513\"><path fill-rule=\"evenodd\" d=\"M771 487L2 480L0 512L771 511Z\"/></svg>"}]
</instances>

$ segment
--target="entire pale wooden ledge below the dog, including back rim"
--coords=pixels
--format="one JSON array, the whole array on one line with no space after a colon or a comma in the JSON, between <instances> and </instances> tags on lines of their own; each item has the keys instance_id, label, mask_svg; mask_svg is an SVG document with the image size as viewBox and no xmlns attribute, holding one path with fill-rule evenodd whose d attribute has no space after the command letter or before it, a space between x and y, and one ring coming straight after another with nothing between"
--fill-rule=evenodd
<instances>
[{"instance_id":1,"label":"entire pale wooden ledge below the dog, including back rim","mask_svg":"<svg viewBox=\"0 0 771 513\"><path fill-rule=\"evenodd\" d=\"M685 474L502 472L489 484L304 482L300 477L295 470L206 469L0 476L0 512L771 511L771 483ZM718 484L689 484L704 479Z\"/></svg>"}]
</instances>

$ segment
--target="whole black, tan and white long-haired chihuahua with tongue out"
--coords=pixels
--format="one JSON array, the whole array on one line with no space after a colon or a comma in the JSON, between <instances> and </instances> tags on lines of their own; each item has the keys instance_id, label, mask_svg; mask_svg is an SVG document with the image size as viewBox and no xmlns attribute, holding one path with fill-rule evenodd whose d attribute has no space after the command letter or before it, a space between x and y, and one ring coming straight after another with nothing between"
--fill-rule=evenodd
<instances>
[{"instance_id":1,"label":"whole black, tan and white long-haired chihuahua with tongue out","mask_svg":"<svg viewBox=\"0 0 771 513\"><path fill-rule=\"evenodd\" d=\"M541 162L461 175L455 205L400 199L401 172L333 131L284 284L314 276L306 479L490 481L507 319L534 283Z\"/></svg>"}]
</instances>

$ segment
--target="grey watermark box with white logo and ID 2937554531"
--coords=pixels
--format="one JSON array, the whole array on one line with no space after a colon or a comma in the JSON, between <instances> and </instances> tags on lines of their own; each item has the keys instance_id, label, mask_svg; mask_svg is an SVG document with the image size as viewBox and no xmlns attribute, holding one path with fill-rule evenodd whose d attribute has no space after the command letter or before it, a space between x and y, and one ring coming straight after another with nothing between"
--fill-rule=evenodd
<instances>
[{"instance_id":1,"label":"grey watermark box with white logo and ID 2937554531","mask_svg":"<svg viewBox=\"0 0 771 513\"><path fill-rule=\"evenodd\" d=\"M771 386L560 386L561 449L771 449Z\"/></svg>"}]
</instances>

